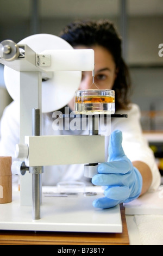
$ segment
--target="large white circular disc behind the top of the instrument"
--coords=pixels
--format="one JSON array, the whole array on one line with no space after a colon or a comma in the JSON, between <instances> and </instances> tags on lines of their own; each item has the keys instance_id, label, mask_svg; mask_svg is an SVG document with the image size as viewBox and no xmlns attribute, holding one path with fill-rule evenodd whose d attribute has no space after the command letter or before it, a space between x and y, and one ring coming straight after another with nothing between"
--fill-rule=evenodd
<instances>
[{"instance_id":1,"label":"large white circular disc behind the top of the instrument","mask_svg":"<svg viewBox=\"0 0 163 256\"><path fill-rule=\"evenodd\" d=\"M36 34L24 38L18 44L26 44L36 53L45 50L71 50L64 39L51 34ZM53 77L42 82L42 112L53 112L67 105L79 88L81 71L55 71ZM4 81L13 100L20 100L20 72L4 66Z\"/></svg>"}]
</instances>

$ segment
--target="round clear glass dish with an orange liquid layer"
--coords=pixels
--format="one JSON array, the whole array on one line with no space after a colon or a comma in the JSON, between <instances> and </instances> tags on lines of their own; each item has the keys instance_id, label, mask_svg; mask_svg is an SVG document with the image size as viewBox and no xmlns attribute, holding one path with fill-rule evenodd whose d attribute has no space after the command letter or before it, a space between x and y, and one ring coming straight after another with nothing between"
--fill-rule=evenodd
<instances>
[{"instance_id":1,"label":"round clear glass dish with an orange liquid layer","mask_svg":"<svg viewBox=\"0 0 163 256\"><path fill-rule=\"evenodd\" d=\"M114 90L77 90L75 93L75 111L79 114L114 114Z\"/></svg>"}]
</instances>

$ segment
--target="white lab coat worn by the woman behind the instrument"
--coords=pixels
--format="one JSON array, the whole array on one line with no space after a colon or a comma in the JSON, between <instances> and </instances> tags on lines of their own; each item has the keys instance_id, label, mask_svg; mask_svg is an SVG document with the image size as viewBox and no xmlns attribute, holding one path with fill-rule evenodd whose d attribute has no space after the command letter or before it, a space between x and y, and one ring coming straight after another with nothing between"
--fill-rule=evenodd
<instances>
[{"instance_id":1,"label":"white lab coat worn by the woman behind the instrument","mask_svg":"<svg viewBox=\"0 0 163 256\"><path fill-rule=\"evenodd\" d=\"M111 132L118 129L122 131L122 146L125 154L131 161L142 161L148 164L152 170L153 180L151 189L155 190L160 185L160 174L156 166L152 150L142 135L140 126L140 109L132 104L128 111L118 111L120 114L128 114L128 118L112 118ZM73 135L85 134L87 131L54 131L53 119L47 114L42 117L42 135ZM15 145L19 143L19 109L16 102L12 102L4 110L1 119L0 155L10 155L14 160ZM106 160L108 158L109 137L105 137ZM68 154L68 152L67 152ZM68 166L46 166L42 175L43 185L53 186L59 181L85 180L83 177L83 164L71 164Z\"/></svg>"}]
</instances>

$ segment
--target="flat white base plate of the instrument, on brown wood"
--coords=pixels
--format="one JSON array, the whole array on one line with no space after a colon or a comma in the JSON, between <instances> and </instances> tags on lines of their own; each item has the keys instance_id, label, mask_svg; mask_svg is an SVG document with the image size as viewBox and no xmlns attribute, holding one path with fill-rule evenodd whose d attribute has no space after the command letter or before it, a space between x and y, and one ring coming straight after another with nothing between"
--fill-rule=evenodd
<instances>
[{"instance_id":1,"label":"flat white base plate of the instrument, on brown wood","mask_svg":"<svg viewBox=\"0 0 163 256\"><path fill-rule=\"evenodd\" d=\"M46 195L46 196L45 196ZM12 203L0 204L0 229L122 233L120 206L96 209L93 200L103 197L82 194L68 197L42 195L41 219L32 220L32 206L20 206L20 192L13 192Z\"/></svg>"}]
</instances>

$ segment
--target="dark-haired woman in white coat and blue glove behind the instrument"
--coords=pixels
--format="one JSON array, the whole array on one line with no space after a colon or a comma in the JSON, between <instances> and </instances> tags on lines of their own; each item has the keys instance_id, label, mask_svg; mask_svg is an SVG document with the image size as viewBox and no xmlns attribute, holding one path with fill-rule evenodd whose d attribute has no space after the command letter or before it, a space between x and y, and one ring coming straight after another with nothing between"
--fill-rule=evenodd
<instances>
[{"instance_id":1,"label":"dark-haired woman in white coat and blue glove behind the instrument","mask_svg":"<svg viewBox=\"0 0 163 256\"><path fill-rule=\"evenodd\" d=\"M111 149L110 147L109 153L112 155L109 156L108 159L108 161L114 162L101 164L98 168L98 172L101 174L98 174L92 179L92 182L95 185L108 186L105 190L106 198L98 200L98 202L95 203L96 206L108 208L116 204L118 200L120 200L120 202L123 202L123 200L129 202L139 196L139 194L145 193L149 188L156 188L160 182L159 172L154 162L153 154L142 136L139 123L139 108L136 105L131 104L129 100L129 72L122 59L121 38L114 25L108 20L77 21L70 23L70 25L62 31L60 36L74 48L92 48L95 51L96 86L99 89L115 90L116 112L128 114L128 120L112 120L111 125L112 131L116 129L122 131L124 152L132 161L132 164L128 161L128 165L125 166L125 163L123 166L123 161L126 161L123 149L119 149L121 154L120 152L117 153L118 147L121 147L120 143L118 143L118 141L121 141L122 139L121 134L119 132L117 132L117 135L114 133L111 137L110 144L112 148L115 148ZM84 71L79 89L89 89L92 84L91 81L91 72ZM91 89L93 89L93 87L91 87ZM74 99L72 99L69 106L73 109ZM118 154L119 156L117 156ZM137 190L135 195L130 195L129 198L126 199L125 197L127 197L127 193L130 193L129 190L134 186L133 184L129 184L129 179L131 179L131 177L129 179L127 178L127 169L129 172L134 172L134 170L136 170L133 184L134 182L135 184L138 182L138 184L132 188L133 190ZM112 174L112 176L110 174ZM126 176L126 179L128 180L127 184L122 181L122 175ZM141 192L139 190L140 187Z\"/></svg>"}]
</instances>

